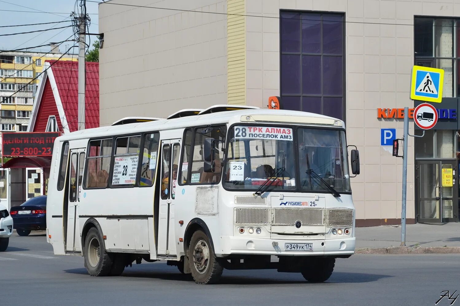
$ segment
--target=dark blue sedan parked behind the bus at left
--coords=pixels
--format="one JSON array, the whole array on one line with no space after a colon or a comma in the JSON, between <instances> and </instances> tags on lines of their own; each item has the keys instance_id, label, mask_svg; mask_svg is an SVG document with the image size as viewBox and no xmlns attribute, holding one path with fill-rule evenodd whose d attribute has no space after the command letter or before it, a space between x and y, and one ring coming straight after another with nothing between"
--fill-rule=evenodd
<instances>
[{"instance_id":1,"label":"dark blue sedan parked behind the bus at left","mask_svg":"<svg viewBox=\"0 0 460 306\"><path fill-rule=\"evenodd\" d=\"M46 195L25 201L21 206L11 207L14 228L19 236L27 236L30 231L46 229Z\"/></svg>"}]
</instances>

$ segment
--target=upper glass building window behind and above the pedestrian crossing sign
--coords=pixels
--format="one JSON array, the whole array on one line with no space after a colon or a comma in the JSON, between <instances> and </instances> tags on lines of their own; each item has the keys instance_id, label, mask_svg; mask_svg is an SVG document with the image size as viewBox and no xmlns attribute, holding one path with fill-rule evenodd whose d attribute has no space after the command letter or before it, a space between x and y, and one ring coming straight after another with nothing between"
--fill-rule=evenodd
<instances>
[{"instance_id":1,"label":"upper glass building window behind and above the pedestrian crossing sign","mask_svg":"<svg viewBox=\"0 0 460 306\"><path fill-rule=\"evenodd\" d=\"M458 60L460 30L456 19L415 17L415 65L444 69L443 97L460 95Z\"/></svg>"}]
</instances>

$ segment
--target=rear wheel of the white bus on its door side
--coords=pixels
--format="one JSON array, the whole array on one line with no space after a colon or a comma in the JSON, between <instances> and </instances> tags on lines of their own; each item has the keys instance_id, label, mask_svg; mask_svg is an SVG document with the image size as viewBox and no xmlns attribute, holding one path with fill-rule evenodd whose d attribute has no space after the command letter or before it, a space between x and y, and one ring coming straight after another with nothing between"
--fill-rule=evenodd
<instances>
[{"instance_id":1,"label":"rear wheel of the white bus on its door side","mask_svg":"<svg viewBox=\"0 0 460 306\"><path fill-rule=\"evenodd\" d=\"M90 228L85 239L85 267L91 276L109 276L113 260L105 250L104 240L97 228Z\"/></svg>"}]
</instances>

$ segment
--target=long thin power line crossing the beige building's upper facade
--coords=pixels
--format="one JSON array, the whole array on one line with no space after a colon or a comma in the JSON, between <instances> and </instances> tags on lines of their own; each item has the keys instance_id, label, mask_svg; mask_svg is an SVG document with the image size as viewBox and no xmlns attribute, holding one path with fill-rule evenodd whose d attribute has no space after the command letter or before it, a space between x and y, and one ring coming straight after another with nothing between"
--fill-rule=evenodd
<instances>
[{"instance_id":1,"label":"long thin power line crossing the beige building's upper facade","mask_svg":"<svg viewBox=\"0 0 460 306\"><path fill-rule=\"evenodd\" d=\"M225 15L225 16L240 16L240 17L259 17L259 18L272 18L272 19L289 19L289 20L305 20L305 21L316 21L319 22L317 19L308 19L308 18L286 18L286 17L279 17L279 16L259 16L259 15L247 15L247 14L231 14L231 13L222 13L222 12L214 12L214 11L196 11L196 10L185 10L185 9L174 9L170 7L158 7L158 6L137 6L134 4L124 4L124 3L115 3L115 2L99 2L94 0L86 0L87 2L94 2L94 3L104 3L104 4L113 4L117 6L132 6L132 7L142 7L142 8L150 8L150 9L157 9L157 10L168 10L168 11L182 11L182 12L192 12L192 13L203 13L203 14L216 14L216 15ZM328 21L328 20L326 20ZM332 21L332 20L331 20ZM335 21L335 20L334 20ZM342 23L362 23L362 24L382 24L382 25L392 25L392 26L414 26L414 24L408 23L382 23L382 22L361 22L361 21L336 21ZM433 25L435 27L452 27L452 25Z\"/></svg>"}]
</instances>

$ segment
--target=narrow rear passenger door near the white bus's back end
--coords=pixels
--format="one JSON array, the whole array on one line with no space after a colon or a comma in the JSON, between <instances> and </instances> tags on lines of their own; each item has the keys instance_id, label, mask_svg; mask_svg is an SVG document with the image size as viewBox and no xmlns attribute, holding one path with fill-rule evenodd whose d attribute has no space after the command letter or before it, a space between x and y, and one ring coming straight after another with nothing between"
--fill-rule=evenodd
<instances>
[{"instance_id":1,"label":"narrow rear passenger door near the white bus's back end","mask_svg":"<svg viewBox=\"0 0 460 306\"><path fill-rule=\"evenodd\" d=\"M85 149L70 150L69 179L67 180L68 199L67 203L67 229L65 230L65 250L67 252L81 251L79 217L77 207L80 203L80 190L85 166ZM64 209L64 211L66 211Z\"/></svg>"}]
</instances>

